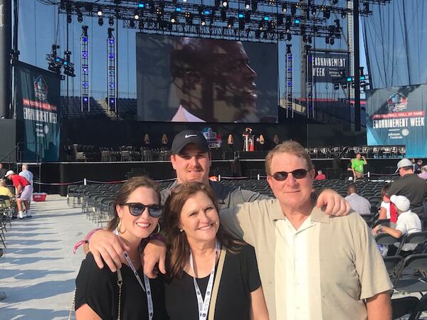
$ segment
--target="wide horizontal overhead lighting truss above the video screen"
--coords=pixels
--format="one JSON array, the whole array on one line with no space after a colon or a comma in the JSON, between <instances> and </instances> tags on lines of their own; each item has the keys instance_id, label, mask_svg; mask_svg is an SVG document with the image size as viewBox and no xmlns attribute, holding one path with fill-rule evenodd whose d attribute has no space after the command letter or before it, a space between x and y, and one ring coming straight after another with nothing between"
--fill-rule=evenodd
<instances>
[{"instance_id":1,"label":"wide horizontal overhead lighting truss above the video screen","mask_svg":"<svg viewBox=\"0 0 427 320\"><path fill-rule=\"evenodd\" d=\"M302 29L305 30L307 41L313 37L334 41L341 37L342 29L340 26L337 28L334 21L328 21L329 18L325 18L325 13L327 17L331 14L336 16L353 14L352 9L332 5L330 1L317 4L315 1L279 0L195 2L101 0L97 1L95 7L89 1L62 0L59 12L68 16L78 16L78 21L83 21L83 16L98 17L99 20L105 16L115 16L123 21L125 28L137 28L145 33L169 32L174 35L185 33L186 36L257 42L277 42L280 37L285 38L285 35L301 35ZM390 0L362 0L359 14L361 16L371 14L370 4L389 2ZM139 13L138 19L135 19L135 11ZM313 15L313 12L316 14ZM290 23L283 23L285 19ZM234 23L235 21L238 23Z\"/></svg>"}]
</instances>

